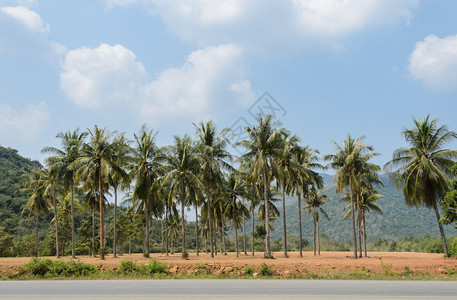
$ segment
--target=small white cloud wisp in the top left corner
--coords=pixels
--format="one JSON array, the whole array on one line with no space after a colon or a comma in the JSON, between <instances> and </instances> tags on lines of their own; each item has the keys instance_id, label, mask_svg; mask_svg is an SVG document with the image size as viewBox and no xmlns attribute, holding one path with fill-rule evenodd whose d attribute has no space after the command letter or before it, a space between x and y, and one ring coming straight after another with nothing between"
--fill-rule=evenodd
<instances>
[{"instance_id":1,"label":"small white cloud wisp in the top left corner","mask_svg":"<svg viewBox=\"0 0 457 300\"><path fill-rule=\"evenodd\" d=\"M25 6L4 6L0 7L0 12L16 19L32 32L49 32L49 24L43 22L39 14Z\"/></svg>"}]
</instances>

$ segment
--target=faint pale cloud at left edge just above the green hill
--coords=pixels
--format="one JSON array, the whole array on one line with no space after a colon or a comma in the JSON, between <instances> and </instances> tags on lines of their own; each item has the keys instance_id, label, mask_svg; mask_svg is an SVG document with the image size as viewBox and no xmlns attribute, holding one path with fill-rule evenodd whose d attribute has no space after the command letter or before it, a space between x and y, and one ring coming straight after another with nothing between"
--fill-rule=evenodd
<instances>
[{"instance_id":1,"label":"faint pale cloud at left edge just above the green hill","mask_svg":"<svg viewBox=\"0 0 457 300\"><path fill-rule=\"evenodd\" d=\"M49 112L44 102L18 109L0 102L0 140L5 145L37 140L48 123Z\"/></svg>"}]
</instances>

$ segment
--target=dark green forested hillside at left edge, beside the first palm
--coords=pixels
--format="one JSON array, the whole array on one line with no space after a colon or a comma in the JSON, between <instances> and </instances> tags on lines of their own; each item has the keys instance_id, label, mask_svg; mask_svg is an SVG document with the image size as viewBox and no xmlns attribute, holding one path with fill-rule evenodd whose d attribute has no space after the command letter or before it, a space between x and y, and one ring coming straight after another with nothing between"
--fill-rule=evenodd
<instances>
[{"instance_id":1,"label":"dark green forested hillside at left edge, beside the first palm","mask_svg":"<svg viewBox=\"0 0 457 300\"><path fill-rule=\"evenodd\" d=\"M27 196L20 192L21 176L41 168L37 161L24 158L17 150L0 146L0 227L16 235L23 218L22 208Z\"/></svg>"}]
</instances>

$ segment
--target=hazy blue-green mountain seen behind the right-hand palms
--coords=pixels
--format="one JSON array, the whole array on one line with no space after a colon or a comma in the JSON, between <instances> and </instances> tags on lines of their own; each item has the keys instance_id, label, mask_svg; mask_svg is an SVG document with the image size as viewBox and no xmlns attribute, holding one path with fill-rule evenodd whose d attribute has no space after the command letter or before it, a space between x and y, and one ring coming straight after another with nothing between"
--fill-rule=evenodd
<instances>
[{"instance_id":1,"label":"hazy blue-green mountain seen behind the right-hand palms","mask_svg":"<svg viewBox=\"0 0 457 300\"><path fill-rule=\"evenodd\" d=\"M349 242L352 239L351 219L341 220L345 214L343 208L347 203L339 201L343 195L335 193L336 183L332 176L323 174L323 177L325 182L324 193L332 200L325 203L322 208L327 212L331 222L321 217L319 222L320 231L328 235L331 239L340 242ZM381 180L384 187L379 186L377 188L384 195L384 198L378 201L383 215L376 213L369 213L367 215L366 227L368 241L374 242L378 238L394 240L411 236L423 237L427 233L430 236L439 236L438 224L433 210L424 207L415 208L407 206L401 191L397 190L395 184L390 181L389 175L381 175ZM286 203L287 233L298 234L298 206L296 197L288 198ZM277 202L276 205L280 209L281 203ZM305 238L310 239L313 231L312 217L310 215L306 219L305 215L306 213L302 214L303 232ZM273 226L272 238L281 238L281 219L278 218L273 222ZM457 230L452 225L445 226L445 232L447 235L457 235Z\"/></svg>"}]
</instances>

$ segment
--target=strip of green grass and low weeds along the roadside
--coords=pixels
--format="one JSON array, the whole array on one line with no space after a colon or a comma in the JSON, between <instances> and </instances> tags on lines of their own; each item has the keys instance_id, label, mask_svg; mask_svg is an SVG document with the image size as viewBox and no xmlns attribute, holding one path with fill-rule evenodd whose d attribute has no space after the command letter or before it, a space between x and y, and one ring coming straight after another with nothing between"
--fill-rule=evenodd
<instances>
[{"instance_id":1,"label":"strip of green grass and low weeds along the roadside","mask_svg":"<svg viewBox=\"0 0 457 300\"><path fill-rule=\"evenodd\" d=\"M457 280L457 270L445 269L446 274L432 275L414 272L405 266L401 272L394 272L392 265L383 264L382 272L377 273L362 267L351 272L343 273L332 268L322 269L318 273L307 269L291 274L287 277L275 273L273 264L262 263L260 266L234 266L230 274L217 274L205 263L194 264L190 274L170 274L168 265L155 259L147 264L138 264L137 261L123 260L119 268L101 272L91 264L84 264L79 260L68 262L50 259L32 258L22 266L19 272L13 275L0 277L0 280L117 280L117 279L295 279L295 280Z\"/></svg>"}]
</instances>

